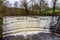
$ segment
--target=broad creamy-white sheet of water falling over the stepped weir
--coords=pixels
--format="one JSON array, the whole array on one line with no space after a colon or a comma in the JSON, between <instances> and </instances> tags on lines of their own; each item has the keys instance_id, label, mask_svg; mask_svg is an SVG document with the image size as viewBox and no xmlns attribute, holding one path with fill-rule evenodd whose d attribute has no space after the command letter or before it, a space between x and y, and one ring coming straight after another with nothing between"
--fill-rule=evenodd
<instances>
[{"instance_id":1,"label":"broad creamy-white sheet of water falling over the stepped weir","mask_svg":"<svg viewBox=\"0 0 60 40\"><path fill-rule=\"evenodd\" d=\"M3 34L7 34L5 36L11 36L11 35L32 35L37 33L50 33L49 28L51 17L41 17L37 16L35 17L4 17L3 18ZM29 27L29 28L27 28ZM34 27L34 28L32 28ZM36 28L38 27L38 28ZM39 28L40 27L40 28ZM12 30L14 29L14 30ZM6 31L5 31L6 30ZM9 31L8 31L9 30ZM18 32L17 32L18 31ZM17 32L17 33L14 33Z\"/></svg>"}]
</instances>

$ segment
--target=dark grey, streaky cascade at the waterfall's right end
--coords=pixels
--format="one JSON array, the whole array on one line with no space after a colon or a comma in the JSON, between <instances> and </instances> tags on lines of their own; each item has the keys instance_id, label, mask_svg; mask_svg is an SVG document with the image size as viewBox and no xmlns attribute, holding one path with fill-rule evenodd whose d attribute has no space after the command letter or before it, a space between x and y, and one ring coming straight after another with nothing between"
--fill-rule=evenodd
<instances>
[{"instance_id":1,"label":"dark grey, streaky cascade at the waterfall's right end","mask_svg":"<svg viewBox=\"0 0 60 40\"><path fill-rule=\"evenodd\" d=\"M58 34L60 34L59 33L60 32L60 17L59 16L51 18L50 31L52 33L58 33Z\"/></svg>"}]
</instances>

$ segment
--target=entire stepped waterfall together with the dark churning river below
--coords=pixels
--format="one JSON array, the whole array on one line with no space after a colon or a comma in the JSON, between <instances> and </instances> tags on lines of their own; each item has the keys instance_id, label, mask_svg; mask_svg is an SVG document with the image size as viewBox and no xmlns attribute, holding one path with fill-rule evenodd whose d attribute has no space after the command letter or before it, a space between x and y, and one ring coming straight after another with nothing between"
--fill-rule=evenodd
<instances>
[{"instance_id":1,"label":"entire stepped waterfall together with the dark churning river below","mask_svg":"<svg viewBox=\"0 0 60 40\"><path fill-rule=\"evenodd\" d=\"M58 33L59 25L60 17L4 17L3 40L60 40L50 34Z\"/></svg>"}]
</instances>

